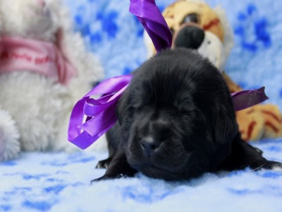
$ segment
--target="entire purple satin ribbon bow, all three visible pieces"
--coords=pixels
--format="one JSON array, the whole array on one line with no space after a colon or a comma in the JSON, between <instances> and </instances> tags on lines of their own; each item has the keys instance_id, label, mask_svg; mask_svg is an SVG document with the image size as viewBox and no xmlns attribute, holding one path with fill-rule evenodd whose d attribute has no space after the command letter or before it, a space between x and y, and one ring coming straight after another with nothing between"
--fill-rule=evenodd
<instances>
[{"instance_id":1,"label":"entire purple satin ribbon bow, all three visible pieces","mask_svg":"<svg viewBox=\"0 0 282 212\"><path fill-rule=\"evenodd\" d=\"M130 12L137 16L147 30L157 51L171 47L171 32L154 0L131 0ZM85 149L106 133L117 121L116 105L132 77L125 75L109 78L79 100L71 113L68 141ZM91 98L93 95L101 97L95 100ZM231 96L235 110L243 110L268 99L264 87L243 90Z\"/></svg>"}]
</instances>

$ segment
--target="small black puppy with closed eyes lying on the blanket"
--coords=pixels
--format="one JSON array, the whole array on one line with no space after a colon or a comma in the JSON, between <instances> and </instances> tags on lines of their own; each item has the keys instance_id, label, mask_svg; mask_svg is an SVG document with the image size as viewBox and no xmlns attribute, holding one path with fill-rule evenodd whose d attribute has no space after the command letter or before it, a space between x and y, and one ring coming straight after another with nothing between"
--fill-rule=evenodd
<instances>
[{"instance_id":1,"label":"small black puppy with closed eyes lying on the blanket","mask_svg":"<svg viewBox=\"0 0 282 212\"><path fill-rule=\"evenodd\" d=\"M108 167L100 179L134 176L183 180L204 172L282 167L240 137L221 73L197 52L165 50L134 72L106 134Z\"/></svg>"}]
</instances>

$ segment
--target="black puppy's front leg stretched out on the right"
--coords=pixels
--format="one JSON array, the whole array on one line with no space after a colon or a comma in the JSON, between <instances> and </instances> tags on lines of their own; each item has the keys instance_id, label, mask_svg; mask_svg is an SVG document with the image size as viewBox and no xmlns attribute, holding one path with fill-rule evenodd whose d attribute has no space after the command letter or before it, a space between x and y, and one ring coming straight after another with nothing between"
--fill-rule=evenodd
<instances>
[{"instance_id":1,"label":"black puppy's front leg stretched out on the right","mask_svg":"<svg viewBox=\"0 0 282 212\"><path fill-rule=\"evenodd\" d=\"M257 148L250 146L240 136L233 141L231 155L221 164L221 170L243 170L250 167L252 170L274 169L276 167L282 169L282 163L266 160L262 157L262 152Z\"/></svg>"}]
</instances>

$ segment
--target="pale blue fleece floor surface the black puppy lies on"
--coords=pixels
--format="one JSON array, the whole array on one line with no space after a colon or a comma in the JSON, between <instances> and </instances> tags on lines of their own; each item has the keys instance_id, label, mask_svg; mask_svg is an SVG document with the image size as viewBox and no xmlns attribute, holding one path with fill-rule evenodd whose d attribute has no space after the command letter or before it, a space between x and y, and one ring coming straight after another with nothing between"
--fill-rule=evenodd
<instances>
[{"instance_id":1,"label":"pale blue fleece floor surface the black puppy lies on","mask_svg":"<svg viewBox=\"0 0 282 212\"><path fill-rule=\"evenodd\" d=\"M282 161L282 139L256 144ZM106 153L24 153L0 165L0 211L282 211L282 172L207 173L190 182L144 175L97 182Z\"/></svg>"}]
</instances>

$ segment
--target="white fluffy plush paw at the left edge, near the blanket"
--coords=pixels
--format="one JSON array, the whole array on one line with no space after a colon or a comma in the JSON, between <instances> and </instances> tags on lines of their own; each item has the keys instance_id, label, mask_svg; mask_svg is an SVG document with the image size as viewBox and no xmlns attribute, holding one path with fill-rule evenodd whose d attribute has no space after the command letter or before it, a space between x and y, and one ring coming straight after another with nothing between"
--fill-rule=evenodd
<instances>
[{"instance_id":1,"label":"white fluffy plush paw at the left edge, near the blanket","mask_svg":"<svg viewBox=\"0 0 282 212\"><path fill-rule=\"evenodd\" d=\"M0 108L0 161L18 157L19 137L18 129L11 115Z\"/></svg>"}]
</instances>

